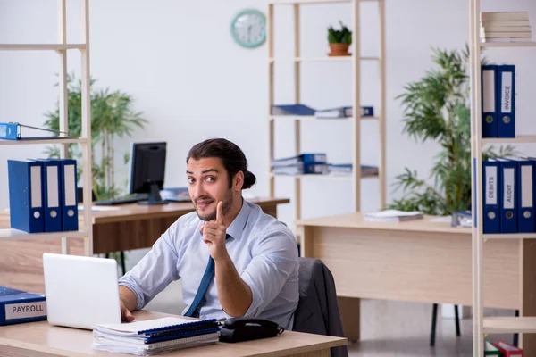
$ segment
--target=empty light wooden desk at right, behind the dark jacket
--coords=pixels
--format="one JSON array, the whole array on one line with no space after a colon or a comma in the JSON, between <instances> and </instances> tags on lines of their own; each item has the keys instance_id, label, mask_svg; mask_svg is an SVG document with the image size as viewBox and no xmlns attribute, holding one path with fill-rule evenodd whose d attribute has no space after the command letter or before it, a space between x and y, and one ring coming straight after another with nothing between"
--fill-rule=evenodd
<instances>
[{"instance_id":1,"label":"empty light wooden desk at right, behind the dark jacket","mask_svg":"<svg viewBox=\"0 0 536 357\"><path fill-rule=\"evenodd\" d=\"M359 339L359 298L473 304L471 228L432 219L371 222L351 213L297 221L302 254L321 259L335 278L349 340ZM536 315L533 239L489 239L483 278L486 307ZM525 355L536 355L534 337L525 334Z\"/></svg>"}]
</instances>

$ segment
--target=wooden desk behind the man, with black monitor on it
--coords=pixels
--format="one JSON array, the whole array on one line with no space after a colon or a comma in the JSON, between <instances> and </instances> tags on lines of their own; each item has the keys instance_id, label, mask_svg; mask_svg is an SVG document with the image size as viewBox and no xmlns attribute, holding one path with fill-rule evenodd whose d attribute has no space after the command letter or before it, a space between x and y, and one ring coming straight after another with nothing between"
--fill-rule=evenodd
<instances>
[{"instance_id":1,"label":"wooden desk behind the man, with black monitor on it","mask_svg":"<svg viewBox=\"0 0 536 357\"><path fill-rule=\"evenodd\" d=\"M248 200L264 212L277 216L277 205L287 198ZM144 206L121 205L119 210L93 213L93 252L110 253L151 247L156 239L180 216L194 212L193 203ZM80 226L83 224L80 214ZM9 214L0 212L0 228L9 228ZM83 255L81 238L71 238L71 253ZM48 253L61 253L61 238L46 240L0 240L0 282L13 288L44 293L43 259Z\"/></svg>"}]
</instances>

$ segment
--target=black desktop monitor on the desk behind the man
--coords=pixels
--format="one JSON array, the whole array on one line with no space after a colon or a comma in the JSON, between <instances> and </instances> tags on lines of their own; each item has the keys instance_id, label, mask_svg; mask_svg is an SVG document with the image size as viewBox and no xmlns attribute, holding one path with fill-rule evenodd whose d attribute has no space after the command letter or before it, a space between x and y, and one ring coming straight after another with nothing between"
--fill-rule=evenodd
<instances>
[{"instance_id":1,"label":"black desktop monitor on the desk behind the man","mask_svg":"<svg viewBox=\"0 0 536 357\"><path fill-rule=\"evenodd\" d=\"M165 174L166 143L133 143L130 152L129 193L148 194L138 204L164 204L160 190Z\"/></svg>"}]
</instances>

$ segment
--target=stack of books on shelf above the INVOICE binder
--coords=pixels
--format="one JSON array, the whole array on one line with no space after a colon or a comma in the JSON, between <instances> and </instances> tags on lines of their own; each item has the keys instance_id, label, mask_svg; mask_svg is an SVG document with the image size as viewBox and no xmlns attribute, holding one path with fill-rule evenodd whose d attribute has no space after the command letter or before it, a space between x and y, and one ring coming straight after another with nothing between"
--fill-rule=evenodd
<instances>
[{"instance_id":1,"label":"stack of books on shelf above the INVOICE binder","mask_svg":"<svg viewBox=\"0 0 536 357\"><path fill-rule=\"evenodd\" d=\"M532 39L529 12L481 12L481 41L527 41Z\"/></svg>"}]
</instances>

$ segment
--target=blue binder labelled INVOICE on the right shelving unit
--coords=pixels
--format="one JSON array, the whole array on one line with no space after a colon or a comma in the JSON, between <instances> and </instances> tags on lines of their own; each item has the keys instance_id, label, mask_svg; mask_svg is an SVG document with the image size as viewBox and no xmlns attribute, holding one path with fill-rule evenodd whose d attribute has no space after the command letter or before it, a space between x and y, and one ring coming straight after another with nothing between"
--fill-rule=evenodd
<instances>
[{"instance_id":1,"label":"blue binder labelled INVOICE on the right shelving unit","mask_svg":"<svg viewBox=\"0 0 536 357\"><path fill-rule=\"evenodd\" d=\"M498 66L498 137L515 137L515 66Z\"/></svg>"}]
</instances>

